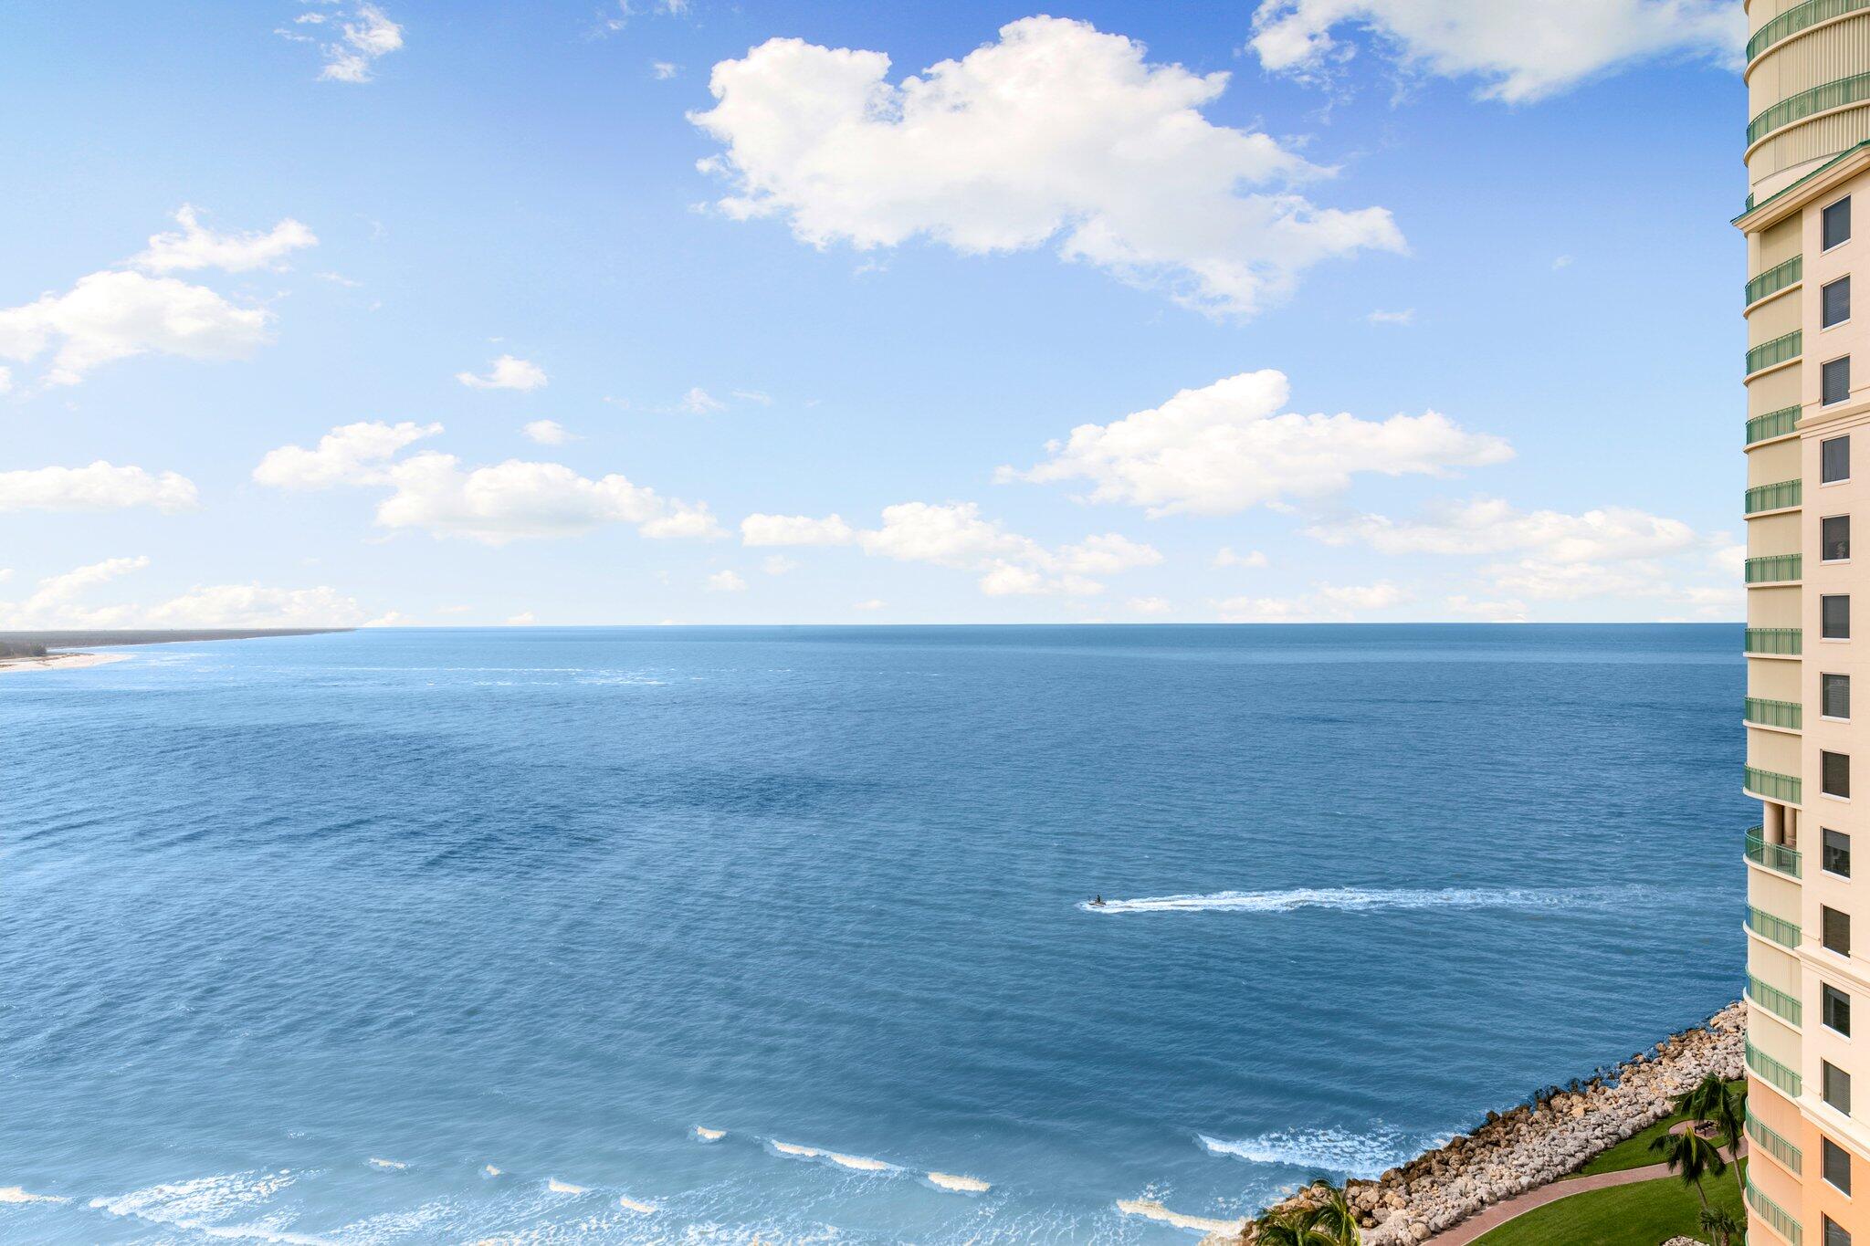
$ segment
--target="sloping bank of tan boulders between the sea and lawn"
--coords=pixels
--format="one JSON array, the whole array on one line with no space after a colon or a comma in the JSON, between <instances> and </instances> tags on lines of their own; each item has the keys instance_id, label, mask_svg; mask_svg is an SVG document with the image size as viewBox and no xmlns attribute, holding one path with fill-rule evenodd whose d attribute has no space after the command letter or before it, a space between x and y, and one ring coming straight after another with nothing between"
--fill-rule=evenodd
<instances>
[{"instance_id":1,"label":"sloping bank of tan boulders between the sea and lawn","mask_svg":"<svg viewBox=\"0 0 1870 1246\"><path fill-rule=\"evenodd\" d=\"M1367 1246L1427 1242L1492 1203L1576 1171L1591 1156L1672 1111L1672 1098L1709 1072L1745 1072L1747 1012L1732 1003L1705 1024L1670 1035L1610 1072L1571 1089L1554 1087L1532 1104L1489 1111L1472 1134L1457 1134L1376 1181L1348 1181L1345 1194ZM1322 1186L1307 1186L1266 1209L1268 1216L1311 1207ZM1238 1233L1210 1233L1202 1246L1257 1242L1264 1216Z\"/></svg>"}]
</instances>

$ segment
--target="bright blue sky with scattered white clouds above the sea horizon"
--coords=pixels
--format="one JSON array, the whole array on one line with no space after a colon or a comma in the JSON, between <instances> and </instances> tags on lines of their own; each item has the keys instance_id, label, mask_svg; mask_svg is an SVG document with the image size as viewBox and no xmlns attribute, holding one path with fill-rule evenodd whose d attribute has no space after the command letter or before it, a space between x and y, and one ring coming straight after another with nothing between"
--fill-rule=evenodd
<instances>
[{"instance_id":1,"label":"bright blue sky with scattered white clouds above the sea horizon","mask_svg":"<svg viewBox=\"0 0 1870 1246\"><path fill-rule=\"evenodd\" d=\"M632 7L9 6L0 628L1741 616L1737 6Z\"/></svg>"}]
</instances>

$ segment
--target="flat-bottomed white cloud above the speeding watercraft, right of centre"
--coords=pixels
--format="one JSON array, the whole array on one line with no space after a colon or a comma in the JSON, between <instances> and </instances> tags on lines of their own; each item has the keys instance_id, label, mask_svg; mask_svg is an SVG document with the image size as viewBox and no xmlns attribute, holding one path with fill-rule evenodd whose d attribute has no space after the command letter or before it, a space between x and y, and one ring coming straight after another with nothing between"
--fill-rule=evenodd
<instances>
[{"instance_id":1,"label":"flat-bottomed white cloud above the speeding watercraft, right of centre","mask_svg":"<svg viewBox=\"0 0 1870 1246\"><path fill-rule=\"evenodd\" d=\"M1446 476L1513 458L1489 433L1470 433L1446 415L1279 415L1290 394L1283 372L1264 368L1186 389L1150 411L1113 424L1079 424L1051 458L1002 480L1090 480L1090 501L1128 503L1150 517L1221 516L1285 497L1316 497L1356 473Z\"/></svg>"}]
</instances>

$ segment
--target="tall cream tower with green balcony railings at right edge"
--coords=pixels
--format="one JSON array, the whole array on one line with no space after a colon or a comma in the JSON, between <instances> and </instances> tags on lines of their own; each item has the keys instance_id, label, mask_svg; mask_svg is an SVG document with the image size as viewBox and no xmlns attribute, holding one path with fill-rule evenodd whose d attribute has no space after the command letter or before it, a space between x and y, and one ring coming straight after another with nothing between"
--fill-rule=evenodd
<instances>
[{"instance_id":1,"label":"tall cream tower with green balcony railings at right edge","mask_svg":"<svg viewBox=\"0 0 1870 1246\"><path fill-rule=\"evenodd\" d=\"M1870 310L1851 316L1870 258L1870 0L1747 7L1745 783L1762 801L1747 833L1747 1240L1870 1246L1870 1009L1851 1031L1851 1001L1870 1005L1870 947L1851 943L1851 923L1870 923L1851 865L1863 841L1870 874L1870 820L1851 805L1853 768L1870 803L1870 725L1851 717L1853 598L1870 633L1870 575L1851 564L1851 516L1870 523Z\"/></svg>"}]
</instances>

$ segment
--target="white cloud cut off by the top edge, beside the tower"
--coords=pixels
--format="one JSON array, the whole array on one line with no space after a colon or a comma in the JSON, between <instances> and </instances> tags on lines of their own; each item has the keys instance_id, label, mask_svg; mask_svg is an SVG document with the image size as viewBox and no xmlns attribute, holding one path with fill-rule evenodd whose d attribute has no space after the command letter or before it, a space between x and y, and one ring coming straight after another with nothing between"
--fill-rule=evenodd
<instances>
[{"instance_id":1,"label":"white cloud cut off by the top edge, beside the tower","mask_svg":"<svg viewBox=\"0 0 1870 1246\"><path fill-rule=\"evenodd\" d=\"M1737 60L1732 0L1264 0L1251 47L1272 71L1330 77L1363 26L1410 71L1479 78L1483 99L1530 103L1659 56Z\"/></svg>"}]
</instances>

